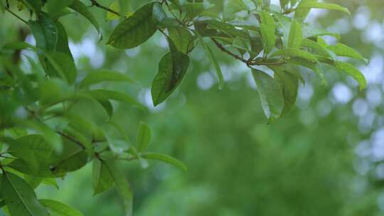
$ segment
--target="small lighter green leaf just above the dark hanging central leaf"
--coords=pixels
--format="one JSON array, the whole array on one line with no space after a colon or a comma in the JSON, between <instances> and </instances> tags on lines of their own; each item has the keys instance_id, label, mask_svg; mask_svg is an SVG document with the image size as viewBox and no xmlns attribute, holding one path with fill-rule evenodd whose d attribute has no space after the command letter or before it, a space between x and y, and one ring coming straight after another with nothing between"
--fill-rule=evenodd
<instances>
[{"instance_id":1,"label":"small lighter green leaf just above the dark hanging central leaf","mask_svg":"<svg viewBox=\"0 0 384 216\"><path fill-rule=\"evenodd\" d=\"M169 37L174 41L176 48L181 53L188 53L193 48L194 38L190 31L182 27L169 27Z\"/></svg>"}]
</instances>

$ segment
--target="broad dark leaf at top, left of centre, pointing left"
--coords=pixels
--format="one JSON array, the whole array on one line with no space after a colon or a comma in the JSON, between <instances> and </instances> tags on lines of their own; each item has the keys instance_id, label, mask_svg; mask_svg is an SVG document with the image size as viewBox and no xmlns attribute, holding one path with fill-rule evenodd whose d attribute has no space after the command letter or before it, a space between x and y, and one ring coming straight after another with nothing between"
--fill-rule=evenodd
<instances>
[{"instance_id":1,"label":"broad dark leaf at top, left of centre, pointing left","mask_svg":"<svg viewBox=\"0 0 384 216\"><path fill-rule=\"evenodd\" d=\"M154 3L149 3L138 9L132 16L124 18L114 28L107 44L115 48L135 48L147 41L156 32L156 22L152 18Z\"/></svg>"}]
</instances>

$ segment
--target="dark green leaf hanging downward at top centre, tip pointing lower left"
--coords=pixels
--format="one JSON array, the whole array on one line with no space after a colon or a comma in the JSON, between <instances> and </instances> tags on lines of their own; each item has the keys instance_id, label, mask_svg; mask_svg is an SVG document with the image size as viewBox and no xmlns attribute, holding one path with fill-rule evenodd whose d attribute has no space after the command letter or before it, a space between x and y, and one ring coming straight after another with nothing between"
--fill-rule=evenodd
<instances>
[{"instance_id":1,"label":"dark green leaf hanging downward at top centre, tip pointing lower left","mask_svg":"<svg viewBox=\"0 0 384 216\"><path fill-rule=\"evenodd\" d=\"M188 55L179 52L171 38L167 39L171 52L161 58L159 71L152 81L151 95L154 106L163 102L176 90L176 87L183 80L189 65Z\"/></svg>"}]
</instances>

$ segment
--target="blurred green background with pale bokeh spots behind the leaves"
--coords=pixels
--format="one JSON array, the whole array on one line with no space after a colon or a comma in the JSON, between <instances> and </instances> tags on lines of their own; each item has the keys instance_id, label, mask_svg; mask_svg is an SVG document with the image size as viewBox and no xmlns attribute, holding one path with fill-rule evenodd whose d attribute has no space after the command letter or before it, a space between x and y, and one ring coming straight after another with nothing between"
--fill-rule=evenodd
<instances>
[{"instance_id":1,"label":"blurred green background with pale bokeh spots behind the leaves","mask_svg":"<svg viewBox=\"0 0 384 216\"><path fill-rule=\"evenodd\" d=\"M144 2L132 0L132 7ZM169 153L188 166L183 172L157 162L146 169L137 162L122 163L134 188L135 215L384 215L384 1L327 2L346 6L352 16L316 9L307 21L341 33L342 43L370 59L368 65L355 62L368 88L359 92L356 82L331 68L324 68L329 85L321 86L301 68L307 82L300 87L297 107L271 125L250 70L219 50L215 55L226 80L222 91L213 65L198 48L181 87L155 108L151 80L167 52L161 34L139 48L116 50L105 45L117 24L105 21L105 11L91 9L103 27L105 39L99 43L84 18L61 19L82 74L109 68L138 80L138 86L107 87L136 95L150 112L114 104L114 121L133 141L139 121L146 121L153 129L151 151ZM0 45L11 41L18 28L26 26L0 13ZM26 41L34 43L32 36ZM23 67L31 70L28 64ZM86 166L58 180L60 190L42 185L38 197L61 200L84 215L124 215L115 190L92 195L91 171Z\"/></svg>"}]
</instances>

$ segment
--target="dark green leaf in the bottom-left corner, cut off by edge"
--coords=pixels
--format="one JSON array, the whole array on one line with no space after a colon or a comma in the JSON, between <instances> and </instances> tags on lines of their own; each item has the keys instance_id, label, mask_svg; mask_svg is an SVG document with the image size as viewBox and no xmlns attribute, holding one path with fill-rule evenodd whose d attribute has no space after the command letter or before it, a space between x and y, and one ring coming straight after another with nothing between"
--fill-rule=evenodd
<instances>
[{"instance_id":1,"label":"dark green leaf in the bottom-left corner, cut off by edge","mask_svg":"<svg viewBox=\"0 0 384 216\"><path fill-rule=\"evenodd\" d=\"M22 178L12 173L3 173L0 193L9 208L11 215L48 216L31 186Z\"/></svg>"}]
</instances>

